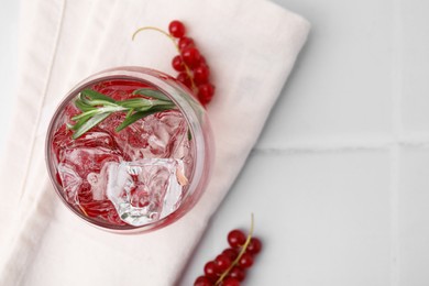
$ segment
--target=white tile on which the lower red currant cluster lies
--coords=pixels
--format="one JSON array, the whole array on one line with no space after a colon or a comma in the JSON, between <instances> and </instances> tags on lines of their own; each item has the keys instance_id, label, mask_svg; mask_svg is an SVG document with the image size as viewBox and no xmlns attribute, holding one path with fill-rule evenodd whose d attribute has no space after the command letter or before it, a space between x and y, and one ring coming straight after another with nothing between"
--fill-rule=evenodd
<instances>
[{"instance_id":1,"label":"white tile on which the lower red currant cluster lies","mask_svg":"<svg viewBox=\"0 0 429 286\"><path fill-rule=\"evenodd\" d=\"M388 166L386 151L253 153L180 285L251 212L265 249L245 285L389 285Z\"/></svg>"}]
</instances>

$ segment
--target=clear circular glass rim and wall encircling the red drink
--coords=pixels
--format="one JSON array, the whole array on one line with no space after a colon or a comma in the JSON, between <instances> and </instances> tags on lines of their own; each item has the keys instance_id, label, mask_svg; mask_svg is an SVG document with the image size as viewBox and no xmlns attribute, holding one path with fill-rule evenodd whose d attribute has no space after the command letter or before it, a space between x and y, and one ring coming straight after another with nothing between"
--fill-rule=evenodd
<instances>
[{"instance_id":1,"label":"clear circular glass rim and wall encircling the red drink","mask_svg":"<svg viewBox=\"0 0 429 286\"><path fill-rule=\"evenodd\" d=\"M143 84L148 84L154 88L161 90L164 95L170 98L180 112L184 114L189 130L193 135L194 145L195 145L195 162L191 172L190 184L187 188L186 198L180 202L178 208L172 213L167 215L160 220L154 222L143 224L141 227L135 226L114 226L108 222L101 222L94 220L89 217L86 217L84 213L70 206L69 202L64 197L63 187L58 184L55 173L55 166L53 163L52 154L52 141L53 133L55 132L55 123L62 114L64 108L69 103L69 101L77 96L77 94L84 89L86 86L90 86L98 81L109 80L109 79L131 79L141 81ZM202 129L202 123L205 129ZM153 231L158 228L166 227L174 221L182 218L186 212L188 212L195 204L198 201L202 195L202 190L208 183L208 177L210 173L210 163L212 160L212 134L210 124L207 120L206 111L202 106L191 96L190 90L177 81L177 79L172 76L164 74L162 72L136 66L122 66L106 69L94 74L86 79L81 80L75 85L70 91L63 98L59 105L56 107L55 112L50 121L46 140L45 140L45 162L47 165L48 176L54 186L56 194L59 196L63 204L72 210L78 218L82 219L85 222L110 232L116 233L141 233Z\"/></svg>"}]
</instances>

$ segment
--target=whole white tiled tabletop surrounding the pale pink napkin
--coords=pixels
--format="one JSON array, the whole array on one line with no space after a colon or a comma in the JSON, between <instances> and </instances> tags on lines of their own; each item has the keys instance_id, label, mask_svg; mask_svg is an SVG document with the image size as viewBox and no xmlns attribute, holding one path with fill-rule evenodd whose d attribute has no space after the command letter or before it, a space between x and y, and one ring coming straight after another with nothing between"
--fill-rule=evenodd
<instances>
[{"instance_id":1,"label":"whole white tiled tabletop surrounding the pale pink napkin","mask_svg":"<svg viewBox=\"0 0 429 286\"><path fill-rule=\"evenodd\" d=\"M18 47L18 1L3 2L2 106ZM275 2L312 31L182 285L251 212L264 251L245 285L429 285L429 2Z\"/></svg>"}]
</instances>

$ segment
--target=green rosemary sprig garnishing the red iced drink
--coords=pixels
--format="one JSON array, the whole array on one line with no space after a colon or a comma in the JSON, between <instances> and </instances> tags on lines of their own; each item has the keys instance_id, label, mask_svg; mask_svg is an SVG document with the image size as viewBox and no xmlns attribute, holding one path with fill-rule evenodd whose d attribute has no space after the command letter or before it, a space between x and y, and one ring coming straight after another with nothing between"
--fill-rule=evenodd
<instances>
[{"instance_id":1,"label":"green rosemary sprig garnishing the red iced drink","mask_svg":"<svg viewBox=\"0 0 429 286\"><path fill-rule=\"evenodd\" d=\"M133 94L142 97L114 100L92 89L81 90L75 99L75 106L81 113L72 118L76 122L74 125L68 125L74 131L73 139L84 135L114 112L127 113L125 119L116 129L119 132L139 119L176 108L176 105L158 90L141 88Z\"/></svg>"}]
</instances>

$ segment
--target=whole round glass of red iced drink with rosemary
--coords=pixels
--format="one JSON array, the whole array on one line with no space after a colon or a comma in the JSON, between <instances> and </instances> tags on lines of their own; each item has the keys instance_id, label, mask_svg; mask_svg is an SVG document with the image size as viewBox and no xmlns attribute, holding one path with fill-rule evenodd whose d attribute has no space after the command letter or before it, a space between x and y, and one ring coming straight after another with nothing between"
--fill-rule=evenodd
<instances>
[{"instance_id":1,"label":"whole round glass of red iced drink with rosemary","mask_svg":"<svg viewBox=\"0 0 429 286\"><path fill-rule=\"evenodd\" d=\"M154 230L201 195L209 133L204 108L174 78L111 69L84 80L57 109L46 141L48 170L62 200L86 221L119 232Z\"/></svg>"}]
</instances>

